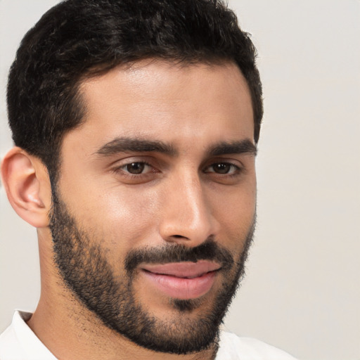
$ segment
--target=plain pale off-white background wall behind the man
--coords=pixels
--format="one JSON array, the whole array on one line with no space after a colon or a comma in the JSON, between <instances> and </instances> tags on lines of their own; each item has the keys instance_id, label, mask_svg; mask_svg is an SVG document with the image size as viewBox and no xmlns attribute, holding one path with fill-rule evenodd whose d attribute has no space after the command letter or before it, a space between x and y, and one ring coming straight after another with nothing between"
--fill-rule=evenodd
<instances>
[{"instance_id":1,"label":"plain pale off-white background wall behind the man","mask_svg":"<svg viewBox=\"0 0 360 360\"><path fill-rule=\"evenodd\" d=\"M55 0L0 0L0 156L8 68ZM304 360L360 359L360 1L233 0L264 84L258 226L225 327ZM0 331L39 297L36 231L0 188Z\"/></svg>"}]
</instances>

